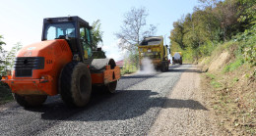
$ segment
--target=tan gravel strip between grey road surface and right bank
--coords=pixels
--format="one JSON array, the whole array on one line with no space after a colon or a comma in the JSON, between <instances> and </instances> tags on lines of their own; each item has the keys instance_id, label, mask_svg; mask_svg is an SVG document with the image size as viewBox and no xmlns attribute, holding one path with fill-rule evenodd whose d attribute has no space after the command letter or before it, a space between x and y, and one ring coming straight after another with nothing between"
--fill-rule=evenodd
<instances>
[{"instance_id":1,"label":"tan gravel strip between grey road surface and right bank","mask_svg":"<svg viewBox=\"0 0 256 136\"><path fill-rule=\"evenodd\" d=\"M149 135L224 135L205 106L196 66L182 73L166 99Z\"/></svg>"}]
</instances>

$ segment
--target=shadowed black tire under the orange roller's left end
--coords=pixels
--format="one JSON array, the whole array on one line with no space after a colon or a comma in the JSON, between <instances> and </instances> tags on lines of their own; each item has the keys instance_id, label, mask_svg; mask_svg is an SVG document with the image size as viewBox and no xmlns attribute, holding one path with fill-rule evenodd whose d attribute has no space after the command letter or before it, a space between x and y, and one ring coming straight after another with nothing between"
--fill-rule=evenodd
<instances>
[{"instance_id":1,"label":"shadowed black tire under the orange roller's left end","mask_svg":"<svg viewBox=\"0 0 256 136\"><path fill-rule=\"evenodd\" d=\"M41 106L47 99L47 95L19 95L14 93L16 102L25 108Z\"/></svg>"}]
</instances>

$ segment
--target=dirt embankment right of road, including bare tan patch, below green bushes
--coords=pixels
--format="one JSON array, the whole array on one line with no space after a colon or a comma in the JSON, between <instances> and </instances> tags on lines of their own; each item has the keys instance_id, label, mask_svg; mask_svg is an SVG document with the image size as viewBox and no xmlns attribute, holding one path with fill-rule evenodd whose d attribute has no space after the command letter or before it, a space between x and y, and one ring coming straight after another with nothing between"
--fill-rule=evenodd
<instances>
[{"instance_id":1,"label":"dirt embankment right of road, including bare tan patch, below green bushes","mask_svg":"<svg viewBox=\"0 0 256 136\"><path fill-rule=\"evenodd\" d=\"M256 134L256 68L243 64L224 68L235 62L233 51L222 51L201 62L203 92L208 106L218 116L221 130L230 135ZM230 65L229 65L230 66Z\"/></svg>"}]
</instances>

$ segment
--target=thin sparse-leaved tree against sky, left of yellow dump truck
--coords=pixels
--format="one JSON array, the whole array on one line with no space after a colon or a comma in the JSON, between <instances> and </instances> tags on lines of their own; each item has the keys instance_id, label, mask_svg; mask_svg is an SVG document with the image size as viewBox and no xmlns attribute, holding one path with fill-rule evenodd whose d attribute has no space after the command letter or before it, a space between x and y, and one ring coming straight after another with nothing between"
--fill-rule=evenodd
<instances>
[{"instance_id":1,"label":"thin sparse-leaved tree against sky, left of yellow dump truck","mask_svg":"<svg viewBox=\"0 0 256 136\"><path fill-rule=\"evenodd\" d=\"M143 40L143 37L156 33L157 26L150 24L147 27L146 18L148 15L145 8L132 8L124 15L121 30L115 33L116 37L121 39L119 48L130 52L137 50L137 45Z\"/></svg>"}]
</instances>

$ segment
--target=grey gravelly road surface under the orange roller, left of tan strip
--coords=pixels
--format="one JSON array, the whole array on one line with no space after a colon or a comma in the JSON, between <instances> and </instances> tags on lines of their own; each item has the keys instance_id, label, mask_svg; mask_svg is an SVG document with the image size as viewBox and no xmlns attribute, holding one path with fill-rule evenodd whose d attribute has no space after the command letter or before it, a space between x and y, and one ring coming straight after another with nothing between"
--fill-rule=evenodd
<instances>
[{"instance_id":1,"label":"grey gravelly road surface under the orange roller, left of tan strip","mask_svg":"<svg viewBox=\"0 0 256 136\"><path fill-rule=\"evenodd\" d=\"M59 96L39 108L0 106L0 135L147 135L166 96L191 65L166 72L122 76L117 92L95 91L85 108L67 107Z\"/></svg>"}]
</instances>

